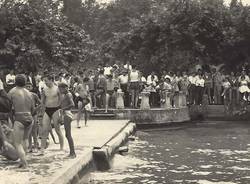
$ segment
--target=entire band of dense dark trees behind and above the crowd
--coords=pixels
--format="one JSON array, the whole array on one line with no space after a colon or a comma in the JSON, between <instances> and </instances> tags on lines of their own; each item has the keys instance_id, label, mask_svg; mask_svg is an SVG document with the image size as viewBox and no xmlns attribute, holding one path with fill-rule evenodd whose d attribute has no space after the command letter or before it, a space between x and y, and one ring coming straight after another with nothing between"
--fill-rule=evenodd
<instances>
[{"instance_id":1,"label":"entire band of dense dark trees behind and above the crowd","mask_svg":"<svg viewBox=\"0 0 250 184\"><path fill-rule=\"evenodd\" d=\"M237 0L30 0L1 4L0 17L0 61L17 65L129 60L150 72L249 62L250 7Z\"/></svg>"}]
</instances>

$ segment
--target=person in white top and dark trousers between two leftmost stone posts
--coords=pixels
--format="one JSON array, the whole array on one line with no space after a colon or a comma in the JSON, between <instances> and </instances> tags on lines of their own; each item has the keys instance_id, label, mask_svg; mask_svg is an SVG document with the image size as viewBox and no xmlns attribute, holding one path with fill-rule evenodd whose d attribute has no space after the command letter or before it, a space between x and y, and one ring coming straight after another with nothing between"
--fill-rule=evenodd
<instances>
[{"instance_id":1,"label":"person in white top and dark trousers between two leftmost stone posts","mask_svg":"<svg viewBox=\"0 0 250 184\"><path fill-rule=\"evenodd\" d=\"M129 93L128 93L128 73L126 70L122 71L122 75L118 77L122 91L124 92L124 106L129 107Z\"/></svg>"}]
</instances>

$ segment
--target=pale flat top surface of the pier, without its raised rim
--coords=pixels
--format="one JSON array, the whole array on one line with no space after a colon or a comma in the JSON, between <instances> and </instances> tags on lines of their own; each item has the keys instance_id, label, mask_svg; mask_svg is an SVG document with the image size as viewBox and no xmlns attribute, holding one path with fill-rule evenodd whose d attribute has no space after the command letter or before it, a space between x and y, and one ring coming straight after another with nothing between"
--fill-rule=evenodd
<instances>
[{"instance_id":1,"label":"pale flat top surface of the pier, without its raised rim","mask_svg":"<svg viewBox=\"0 0 250 184\"><path fill-rule=\"evenodd\" d=\"M46 150L45 156L39 157L29 154L27 156L29 168L26 170L18 169L17 162L7 161L0 156L0 183L51 183L62 173L69 173L73 168L76 169L76 163L89 162L92 159L93 148L102 147L119 133L127 123L127 120L90 120L87 127L83 126L81 129L77 129L76 122L73 122L72 135L77 154L77 158L75 159L66 158L69 154L66 138L65 151L59 151L59 145L55 145L53 141L50 140L51 144ZM64 133L63 127L62 131ZM56 139L58 140L57 136Z\"/></svg>"}]
</instances>

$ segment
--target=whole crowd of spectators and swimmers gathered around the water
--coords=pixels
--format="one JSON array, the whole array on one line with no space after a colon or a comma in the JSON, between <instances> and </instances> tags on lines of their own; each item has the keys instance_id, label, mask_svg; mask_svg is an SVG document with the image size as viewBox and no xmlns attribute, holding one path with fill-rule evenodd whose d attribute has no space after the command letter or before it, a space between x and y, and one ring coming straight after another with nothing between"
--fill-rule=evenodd
<instances>
[{"instance_id":1,"label":"whole crowd of spectators and swimmers gathered around the water","mask_svg":"<svg viewBox=\"0 0 250 184\"><path fill-rule=\"evenodd\" d=\"M244 69L237 74L199 68L189 73L162 71L156 74L152 71L145 76L129 62L74 72L54 73L52 70L16 75L10 70L0 80L1 154L12 160L20 158L20 167L26 167L27 152L44 155L52 126L63 150L64 138L60 129L63 124L69 157L75 158L71 110L78 108L76 126L81 128L80 120L84 116L87 125L89 112L96 108L105 109L105 112L116 108L118 92L123 92L125 108L139 108L141 92L146 91L152 108L166 103L166 95L174 107L174 97L182 92L189 105L224 104L229 108L240 104L246 110L250 101L249 83ZM42 116L41 121L39 116Z\"/></svg>"}]
</instances>

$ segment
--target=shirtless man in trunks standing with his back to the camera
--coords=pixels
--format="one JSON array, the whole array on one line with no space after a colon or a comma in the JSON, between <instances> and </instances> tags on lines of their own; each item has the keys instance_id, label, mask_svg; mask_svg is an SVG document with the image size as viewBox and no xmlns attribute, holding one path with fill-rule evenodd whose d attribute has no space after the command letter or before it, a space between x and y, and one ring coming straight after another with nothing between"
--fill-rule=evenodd
<instances>
[{"instance_id":1,"label":"shirtless man in trunks standing with his back to the camera","mask_svg":"<svg viewBox=\"0 0 250 184\"><path fill-rule=\"evenodd\" d=\"M8 96L13 103L13 139L14 146L20 158L20 168L27 167L26 152L29 134L31 132L34 112L34 103L31 93L25 89L25 75L17 75L16 87L10 90Z\"/></svg>"}]
</instances>

